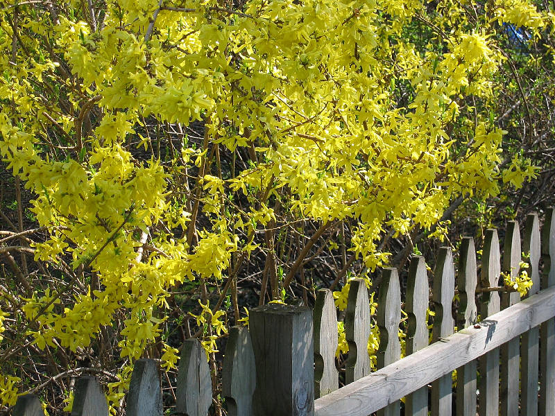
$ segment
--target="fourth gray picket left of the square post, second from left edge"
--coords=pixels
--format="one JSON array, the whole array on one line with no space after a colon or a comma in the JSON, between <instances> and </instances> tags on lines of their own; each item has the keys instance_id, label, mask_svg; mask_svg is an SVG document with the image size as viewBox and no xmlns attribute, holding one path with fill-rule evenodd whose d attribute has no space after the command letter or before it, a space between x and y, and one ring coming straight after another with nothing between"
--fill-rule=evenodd
<instances>
[{"instance_id":1,"label":"fourth gray picket left of the square post, second from left edge","mask_svg":"<svg viewBox=\"0 0 555 416\"><path fill-rule=\"evenodd\" d=\"M71 416L107 416L108 402L96 377L80 376L74 389Z\"/></svg>"}]
</instances>

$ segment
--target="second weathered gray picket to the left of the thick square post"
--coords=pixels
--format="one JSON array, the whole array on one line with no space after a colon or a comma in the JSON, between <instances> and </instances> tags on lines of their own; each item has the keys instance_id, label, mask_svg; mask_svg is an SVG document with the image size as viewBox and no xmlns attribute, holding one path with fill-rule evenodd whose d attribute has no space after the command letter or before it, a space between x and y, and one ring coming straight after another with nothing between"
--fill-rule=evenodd
<instances>
[{"instance_id":1,"label":"second weathered gray picket to the left of the thick square post","mask_svg":"<svg viewBox=\"0 0 555 416\"><path fill-rule=\"evenodd\" d=\"M187 416L206 416L212 404L212 381L203 346L185 340L179 360L176 410Z\"/></svg>"}]
</instances>

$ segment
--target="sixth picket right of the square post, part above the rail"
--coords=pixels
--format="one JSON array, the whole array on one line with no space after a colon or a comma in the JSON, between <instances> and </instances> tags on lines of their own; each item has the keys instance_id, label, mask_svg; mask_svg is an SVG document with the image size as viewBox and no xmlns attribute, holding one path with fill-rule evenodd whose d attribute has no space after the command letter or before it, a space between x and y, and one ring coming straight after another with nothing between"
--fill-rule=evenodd
<instances>
[{"instance_id":1,"label":"sixth picket right of the square post, part above the rail","mask_svg":"<svg viewBox=\"0 0 555 416\"><path fill-rule=\"evenodd\" d=\"M476 266L476 248L472 237L464 237L461 242L459 254L459 313L457 327L463 329L470 327L477 321L477 306L475 301L476 285L478 284Z\"/></svg>"}]
</instances>

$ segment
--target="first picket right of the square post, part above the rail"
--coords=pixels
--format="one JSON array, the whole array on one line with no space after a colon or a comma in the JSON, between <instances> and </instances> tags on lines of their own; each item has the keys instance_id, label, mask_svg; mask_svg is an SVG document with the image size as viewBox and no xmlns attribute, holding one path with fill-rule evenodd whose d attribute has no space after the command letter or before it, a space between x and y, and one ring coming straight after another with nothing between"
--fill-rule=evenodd
<instances>
[{"instance_id":1,"label":"first picket right of the square post, part above the rail","mask_svg":"<svg viewBox=\"0 0 555 416\"><path fill-rule=\"evenodd\" d=\"M322 397L339 388L335 367L337 349L337 313L332 291L321 289L314 304L314 397Z\"/></svg>"}]
</instances>

